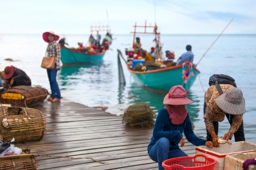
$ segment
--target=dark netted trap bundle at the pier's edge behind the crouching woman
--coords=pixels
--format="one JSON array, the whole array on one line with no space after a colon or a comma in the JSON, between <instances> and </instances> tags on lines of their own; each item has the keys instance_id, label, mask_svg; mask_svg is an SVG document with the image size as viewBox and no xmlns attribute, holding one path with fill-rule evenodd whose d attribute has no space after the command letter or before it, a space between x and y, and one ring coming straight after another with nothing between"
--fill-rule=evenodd
<instances>
[{"instance_id":1,"label":"dark netted trap bundle at the pier's edge behind the crouching woman","mask_svg":"<svg viewBox=\"0 0 256 170\"><path fill-rule=\"evenodd\" d=\"M156 114L146 103L124 109L123 123L132 128L154 127Z\"/></svg>"}]
</instances>

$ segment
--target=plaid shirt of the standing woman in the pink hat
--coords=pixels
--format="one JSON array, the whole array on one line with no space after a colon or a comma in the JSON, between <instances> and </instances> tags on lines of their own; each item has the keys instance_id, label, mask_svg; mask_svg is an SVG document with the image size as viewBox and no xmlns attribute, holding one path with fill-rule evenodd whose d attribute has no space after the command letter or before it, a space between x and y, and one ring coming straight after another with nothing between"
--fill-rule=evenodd
<instances>
[{"instance_id":1,"label":"plaid shirt of the standing woman in the pink hat","mask_svg":"<svg viewBox=\"0 0 256 170\"><path fill-rule=\"evenodd\" d=\"M59 44L54 41L54 42L48 42L48 46L47 46L47 53L48 56L55 56L55 63L56 65L60 65L60 46Z\"/></svg>"}]
</instances>

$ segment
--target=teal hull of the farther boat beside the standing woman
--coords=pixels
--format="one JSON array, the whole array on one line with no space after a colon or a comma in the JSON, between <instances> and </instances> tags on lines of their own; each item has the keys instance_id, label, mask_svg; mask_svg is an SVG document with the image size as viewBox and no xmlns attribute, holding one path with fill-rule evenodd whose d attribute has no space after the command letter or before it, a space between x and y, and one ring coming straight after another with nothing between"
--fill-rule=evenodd
<instances>
[{"instance_id":1,"label":"teal hull of the farther boat beside the standing woman","mask_svg":"<svg viewBox=\"0 0 256 170\"><path fill-rule=\"evenodd\" d=\"M88 54L80 52L76 49L69 49L64 46L60 46L61 62L63 65L81 65L91 64L102 61L105 52L97 54Z\"/></svg>"}]
</instances>

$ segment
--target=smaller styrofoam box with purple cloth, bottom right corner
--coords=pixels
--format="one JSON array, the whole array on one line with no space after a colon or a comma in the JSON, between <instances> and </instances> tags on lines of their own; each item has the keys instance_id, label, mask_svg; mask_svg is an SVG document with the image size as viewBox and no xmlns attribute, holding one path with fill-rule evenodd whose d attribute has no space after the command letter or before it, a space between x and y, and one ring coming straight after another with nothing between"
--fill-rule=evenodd
<instances>
[{"instance_id":1,"label":"smaller styrofoam box with purple cloth, bottom right corner","mask_svg":"<svg viewBox=\"0 0 256 170\"><path fill-rule=\"evenodd\" d=\"M243 163L247 159L255 158L256 152L239 153L233 155L227 155L225 157L224 170L243 170ZM256 165L249 165L248 170L256 169Z\"/></svg>"}]
</instances>

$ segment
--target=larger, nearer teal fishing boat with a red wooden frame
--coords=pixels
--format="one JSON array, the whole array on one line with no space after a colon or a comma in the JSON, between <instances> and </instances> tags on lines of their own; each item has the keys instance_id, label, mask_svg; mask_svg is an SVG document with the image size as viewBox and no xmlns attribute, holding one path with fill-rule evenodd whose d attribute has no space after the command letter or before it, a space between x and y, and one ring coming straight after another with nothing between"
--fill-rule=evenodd
<instances>
[{"instance_id":1,"label":"larger, nearer teal fishing boat with a red wooden frame","mask_svg":"<svg viewBox=\"0 0 256 170\"><path fill-rule=\"evenodd\" d=\"M122 55L121 51L118 50L118 56L121 56L123 60L125 61L127 65L127 69L130 72L131 76L133 77L136 84L145 87L150 88L153 90L160 90L160 91L168 91L172 86L174 85L182 85L186 90L189 90L189 88L194 84L196 77L199 73L199 70L196 69L196 67L193 66L192 63L186 62L182 65L177 65L175 63L170 64L168 61L163 61L163 54L161 52L162 46L161 42L159 41L160 33L157 32L157 26L134 26L134 38L133 43L135 40L135 34L136 33L152 33L155 35L155 49L156 49L156 57L155 61L146 61L143 59L137 60L134 59L133 56L135 54L131 55L129 54L129 51L126 49L127 60L125 60L124 56ZM143 27L145 28L144 32L136 32L137 27ZM146 28L154 28L153 32L147 32ZM134 47L134 45L133 45ZM131 57L132 56L132 57ZM136 70L135 65L140 64L141 70ZM154 69L148 67L148 63L151 63L151 65L159 65L159 67L155 67ZM174 65L175 64L175 65ZM145 66L145 67L144 67ZM143 69L144 67L144 69ZM148 68L150 69L148 69Z\"/></svg>"}]
</instances>

